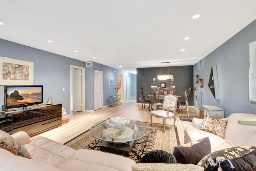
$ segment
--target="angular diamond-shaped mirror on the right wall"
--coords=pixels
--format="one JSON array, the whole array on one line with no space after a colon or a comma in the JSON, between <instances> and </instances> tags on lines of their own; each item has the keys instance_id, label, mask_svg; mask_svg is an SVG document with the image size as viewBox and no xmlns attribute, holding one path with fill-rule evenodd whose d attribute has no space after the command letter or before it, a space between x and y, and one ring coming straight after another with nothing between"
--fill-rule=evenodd
<instances>
[{"instance_id":1,"label":"angular diamond-shaped mirror on the right wall","mask_svg":"<svg viewBox=\"0 0 256 171\"><path fill-rule=\"evenodd\" d=\"M215 97L215 99L220 99L220 90L219 90L218 73L217 73L216 65L212 66L208 86L212 92L212 95Z\"/></svg>"}]
</instances>

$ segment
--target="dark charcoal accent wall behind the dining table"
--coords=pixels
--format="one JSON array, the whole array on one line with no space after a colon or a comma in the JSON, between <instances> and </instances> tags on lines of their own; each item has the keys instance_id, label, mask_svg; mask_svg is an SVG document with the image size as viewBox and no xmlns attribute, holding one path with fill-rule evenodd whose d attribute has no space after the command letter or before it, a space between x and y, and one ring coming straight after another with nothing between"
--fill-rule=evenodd
<instances>
[{"instance_id":1,"label":"dark charcoal accent wall behind the dining table","mask_svg":"<svg viewBox=\"0 0 256 171\"><path fill-rule=\"evenodd\" d=\"M174 76L174 83L171 84L170 80L159 81L157 76L160 74L169 74ZM152 78L156 78L155 84L153 84ZM172 67L156 67L156 68L137 68L137 103L142 103L140 87L144 88L145 96L150 95L151 85L160 86L161 82L166 83L166 87L169 85L176 85L176 91L174 95L181 95L178 101L185 101L185 89L188 91L188 87L193 89L193 66L172 66ZM147 98L147 97L146 97ZM190 101L188 105L194 104L194 93L191 91Z\"/></svg>"}]
</instances>

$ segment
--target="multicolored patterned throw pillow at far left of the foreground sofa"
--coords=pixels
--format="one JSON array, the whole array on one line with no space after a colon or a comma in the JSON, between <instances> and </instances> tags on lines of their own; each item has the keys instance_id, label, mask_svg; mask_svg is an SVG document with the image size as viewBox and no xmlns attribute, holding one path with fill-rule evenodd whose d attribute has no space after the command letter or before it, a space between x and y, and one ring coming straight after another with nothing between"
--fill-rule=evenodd
<instances>
[{"instance_id":1,"label":"multicolored patterned throw pillow at far left of the foreground sofa","mask_svg":"<svg viewBox=\"0 0 256 171\"><path fill-rule=\"evenodd\" d=\"M31 158L30 153L28 153L27 149L23 145L2 130L0 130L0 147L12 152L15 155L26 157L28 159Z\"/></svg>"}]
</instances>

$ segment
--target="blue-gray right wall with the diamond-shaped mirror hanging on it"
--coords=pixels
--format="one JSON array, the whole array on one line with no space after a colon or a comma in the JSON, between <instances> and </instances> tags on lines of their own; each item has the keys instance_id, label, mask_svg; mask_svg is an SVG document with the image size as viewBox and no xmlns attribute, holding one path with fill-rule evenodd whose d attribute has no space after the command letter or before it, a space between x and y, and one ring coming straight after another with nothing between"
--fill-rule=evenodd
<instances>
[{"instance_id":1,"label":"blue-gray right wall with the diamond-shaped mirror hanging on it","mask_svg":"<svg viewBox=\"0 0 256 171\"><path fill-rule=\"evenodd\" d=\"M256 20L234 35L219 48L194 65L194 87L198 106L217 105L232 113L256 114L256 102L248 101L249 42L256 40ZM217 65L220 100L214 99L208 87L212 65ZM204 87L196 83L196 75L204 79Z\"/></svg>"}]
</instances>

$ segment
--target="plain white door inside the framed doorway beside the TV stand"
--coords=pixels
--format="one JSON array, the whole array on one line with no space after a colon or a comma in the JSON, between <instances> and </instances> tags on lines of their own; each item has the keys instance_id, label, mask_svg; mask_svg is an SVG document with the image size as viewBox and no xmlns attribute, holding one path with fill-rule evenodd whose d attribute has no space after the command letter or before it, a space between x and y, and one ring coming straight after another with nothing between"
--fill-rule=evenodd
<instances>
[{"instance_id":1,"label":"plain white door inside the framed doorway beside the TV stand","mask_svg":"<svg viewBox=\"0 0 256 171\"><path fill-rule=\"evenodd\" d=\"M72 70L71 111L82 111L82 70Z\"/></svg>"}]
</instances>

